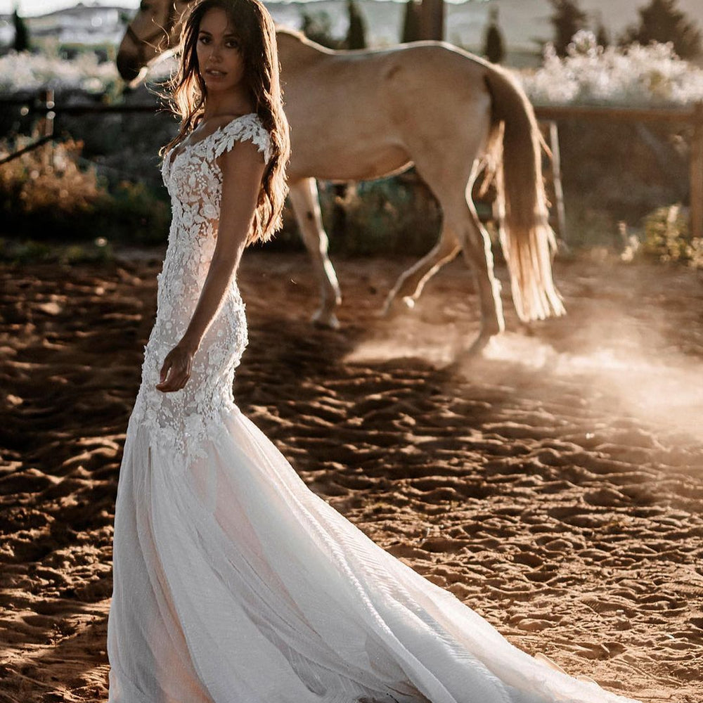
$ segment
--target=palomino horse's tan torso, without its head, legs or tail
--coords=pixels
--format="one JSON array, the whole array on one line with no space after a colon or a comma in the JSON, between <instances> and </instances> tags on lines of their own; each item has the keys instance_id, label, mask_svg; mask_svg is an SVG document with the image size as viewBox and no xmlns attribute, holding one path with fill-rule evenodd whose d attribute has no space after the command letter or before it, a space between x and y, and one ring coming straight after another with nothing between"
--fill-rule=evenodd
<instances>
[{"instance_id":1,"label":"palomino horse's tan torso, without its head, legs or tail","mask_svg":"<svg viewBox=\"0 0 703 703\"><path fill-rule=\"evenodd\" d=\"M292 176L377 178L452 150L470 167L485 143L490 67L481 59L438 41L330 51L280 39Z\"/></svg>"}]
</instances>

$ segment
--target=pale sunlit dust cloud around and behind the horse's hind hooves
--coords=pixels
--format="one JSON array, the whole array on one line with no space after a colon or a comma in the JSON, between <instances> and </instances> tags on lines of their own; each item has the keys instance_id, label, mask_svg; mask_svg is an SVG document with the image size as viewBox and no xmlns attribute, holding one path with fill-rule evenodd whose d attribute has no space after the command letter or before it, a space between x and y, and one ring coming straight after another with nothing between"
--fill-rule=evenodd
<instances>
[{"instance_id":1,"label":"pale sunlit dust cloud around and behind the horse's hind hooves","mask_svg":"<svg viewBox=\"0 0 703 703\"><path fill-rule=\"evenodd\" d=\"M583 401L604 411L703 439L700 320L698 328L695 320L677 326L670 301L640 299L640 307L633 295L620 302L567 299L567 316L531 325L508 317L508 331L467 357L479 330L475 312L467 319L467 302L430 292L414 309L381 320L347 360L423 359L438 368L452 366L475 383L517 385L524 393L531 387L536 396L553 395L566 383L569 395L580 387ZM504 304L509 313L510 301Z\"/></svg>"}]
</instances>

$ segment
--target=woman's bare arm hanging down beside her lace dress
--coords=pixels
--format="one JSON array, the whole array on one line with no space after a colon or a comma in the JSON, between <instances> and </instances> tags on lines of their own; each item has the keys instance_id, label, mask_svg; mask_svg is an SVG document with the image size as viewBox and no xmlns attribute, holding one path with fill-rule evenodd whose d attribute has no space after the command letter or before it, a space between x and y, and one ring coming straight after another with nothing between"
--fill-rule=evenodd
<instances>
[{"instance_id":1,"label":"woman's bare arm hanging down beside her lace dress","mask_svg":"<svg viewBox=\"0 0 703 703\"><path fill-rule=\"evenodd\" d=\"M240 141L220 157L222 198L217 243L193 318L181 341L166 356L156 387L178 391L191 376L193 355L217 315L237 270L257 207L265 164L257 146ZM168 376L168 378L167 378Z\"/></svg>"}]
</instances>

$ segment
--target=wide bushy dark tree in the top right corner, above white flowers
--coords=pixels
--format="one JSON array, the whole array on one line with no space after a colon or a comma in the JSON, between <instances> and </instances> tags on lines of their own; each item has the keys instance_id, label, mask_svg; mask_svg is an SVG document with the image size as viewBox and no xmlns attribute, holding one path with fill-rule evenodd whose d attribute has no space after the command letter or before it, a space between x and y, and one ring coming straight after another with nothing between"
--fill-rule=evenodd
<instances>
[{"instance_id":1,"label":"wide bushy dark tree in the top right corner, above white flowers","mask_svg":"<svg viewBox=\"0 0 703 703\"><path fill-rule=\"evenodd\" d=\"M638 41L650 44L659 41L673 43L673 50L681 58L695 58L702 52L701 32L677 7L678 0L650 0L640 8L640 25L630 27L623 37L624 44Z\"/></svg>"}]
</instances>

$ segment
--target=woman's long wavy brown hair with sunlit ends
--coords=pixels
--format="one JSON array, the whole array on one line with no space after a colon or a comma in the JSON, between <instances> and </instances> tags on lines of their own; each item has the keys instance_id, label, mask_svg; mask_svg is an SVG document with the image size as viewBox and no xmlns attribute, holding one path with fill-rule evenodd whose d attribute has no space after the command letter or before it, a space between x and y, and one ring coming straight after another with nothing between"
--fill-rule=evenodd
<instances>
[{"instance_id":1,"label":"woman's long wavy brown hair with sunlit ends","mask_svg":"<svg viewBox=\"0 0 703 703\"><path fill-rule=\"evenodd\" d=\"M288 120L280 89L276 28L259 0L200 0L183 22L179 69L166 83L172 111L181 117L179 133L160 150L165 155L181 143L202 120L207 87L198 70L196 46L200 22L207 11L220 8L227 14L242 47L245 81L252 93L259 119L271 137L271 160L266 165L247 245L265 242L282 224L283 202L288 193L285 167L290 155Z\"/></svg>"}]
</instances>

